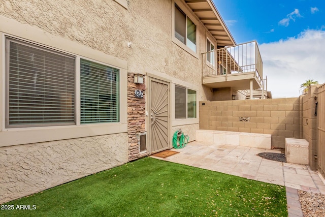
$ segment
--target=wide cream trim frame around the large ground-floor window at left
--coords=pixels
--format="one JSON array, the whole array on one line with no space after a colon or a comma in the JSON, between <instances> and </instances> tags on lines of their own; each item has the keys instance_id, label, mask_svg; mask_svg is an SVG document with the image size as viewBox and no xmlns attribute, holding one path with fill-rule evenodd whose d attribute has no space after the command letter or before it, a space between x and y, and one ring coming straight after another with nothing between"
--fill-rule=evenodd
<instances>
[{"instance_id":1,"label":"wide cream trim frame around the large ground-floor window at left","mask_svg":"<svg viewBox=\"0 0 325 217\"><path fill-rule=\"evenodd\" d=\"M4 33L6 29L7 33ZM24 30L17 30L24 29ZM33 34L30 34L33 33ZM18 36L19 35L19 36ZM76 67L75 75L75 125L6 128L6 37L33 43L59 52L76 56L76 66L80 66L80 58L113 67L120 70L119 85L119 122L80 124L80 67ZM127 133L127 61L111 56L99 50L61 38L49 37L37 27L7 20L0 26L0 147L73 139L108 134Z\"/></svg>"}]
</instances>

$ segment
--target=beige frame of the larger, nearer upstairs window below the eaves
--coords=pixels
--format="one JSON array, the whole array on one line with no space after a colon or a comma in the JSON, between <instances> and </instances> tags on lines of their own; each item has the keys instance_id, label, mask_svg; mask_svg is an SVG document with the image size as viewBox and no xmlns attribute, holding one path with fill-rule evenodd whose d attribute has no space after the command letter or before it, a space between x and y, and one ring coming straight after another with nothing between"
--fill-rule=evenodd
<instances>
[{"instance_id":1,"label":"beige frame of the larger, nearer upstairs window below the eaves","mask_svg":"<svg viewBox=\"0 0 325 217\"><path fill-rule=\"evenodd\" d=\"M193 51L190 47L188 47L186 44L183 44L180 40L178 40L175 37L175 7L178 6L179 9L186 15L186 40L187 40L187 18L189 18L195 25L196 25L196 50ZM199 59L199 34L198 34L198 24L199 21L196 17L194 17L189 10L184 6L184 4L180 0L173 0L172 1L172 42L174 42L176 45L184 49L186 52L191 54L192 56Z\"/></svg>"}]
</instances>

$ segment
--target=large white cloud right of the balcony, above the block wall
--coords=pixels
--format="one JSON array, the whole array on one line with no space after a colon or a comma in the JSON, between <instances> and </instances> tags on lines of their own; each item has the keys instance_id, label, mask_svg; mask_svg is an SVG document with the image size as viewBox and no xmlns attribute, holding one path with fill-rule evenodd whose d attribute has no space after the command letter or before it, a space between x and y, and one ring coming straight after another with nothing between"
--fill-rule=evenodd
<instances>
[{"instance_id":1,"label":"large white cloud right of the balcony, above the block wall","mask_svg":"<svg viewBox=\"0 0 325 217\"><path fill-rule=\"evenodd\" d=\"M308 79L325 82L325 30L305 30L295 38L259 45L264 78L274 98L298 97Z\"/></svg>"}]
</instances>

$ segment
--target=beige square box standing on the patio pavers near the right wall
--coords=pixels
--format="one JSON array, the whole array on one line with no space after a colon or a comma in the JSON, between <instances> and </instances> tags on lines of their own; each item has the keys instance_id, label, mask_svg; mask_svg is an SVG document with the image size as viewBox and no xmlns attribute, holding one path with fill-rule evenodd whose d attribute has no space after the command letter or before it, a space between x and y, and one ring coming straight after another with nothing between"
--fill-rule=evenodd
<instances>
[{"instance_id":1,"label":"beige square box standing on the patio pavers near the right wall","mask_svg":"<svg viewBox=\"0 0 325 217\"><path fill-rule=\"evenodd\" d=\"M308 165L308 145L306 139L285 138L286 162Z\"/></svg>"}]
</instances>

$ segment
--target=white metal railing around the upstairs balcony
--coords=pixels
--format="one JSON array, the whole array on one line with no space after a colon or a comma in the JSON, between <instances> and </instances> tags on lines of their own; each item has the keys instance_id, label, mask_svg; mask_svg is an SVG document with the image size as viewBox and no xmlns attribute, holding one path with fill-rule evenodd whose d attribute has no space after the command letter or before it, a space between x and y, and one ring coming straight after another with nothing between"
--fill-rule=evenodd
<instances>
[{"instance_id":1,"label":"white metal railing around the upstairs balcony","mask_svg":"<svg viewBox=\"0 0 325 217\"><path fill-rule=\"evenodd\" d=\"M255 73L259 84L263 84L263 61L256 41L202 53L202 60L203 77Z\"/></svg>"}]
</instances>

